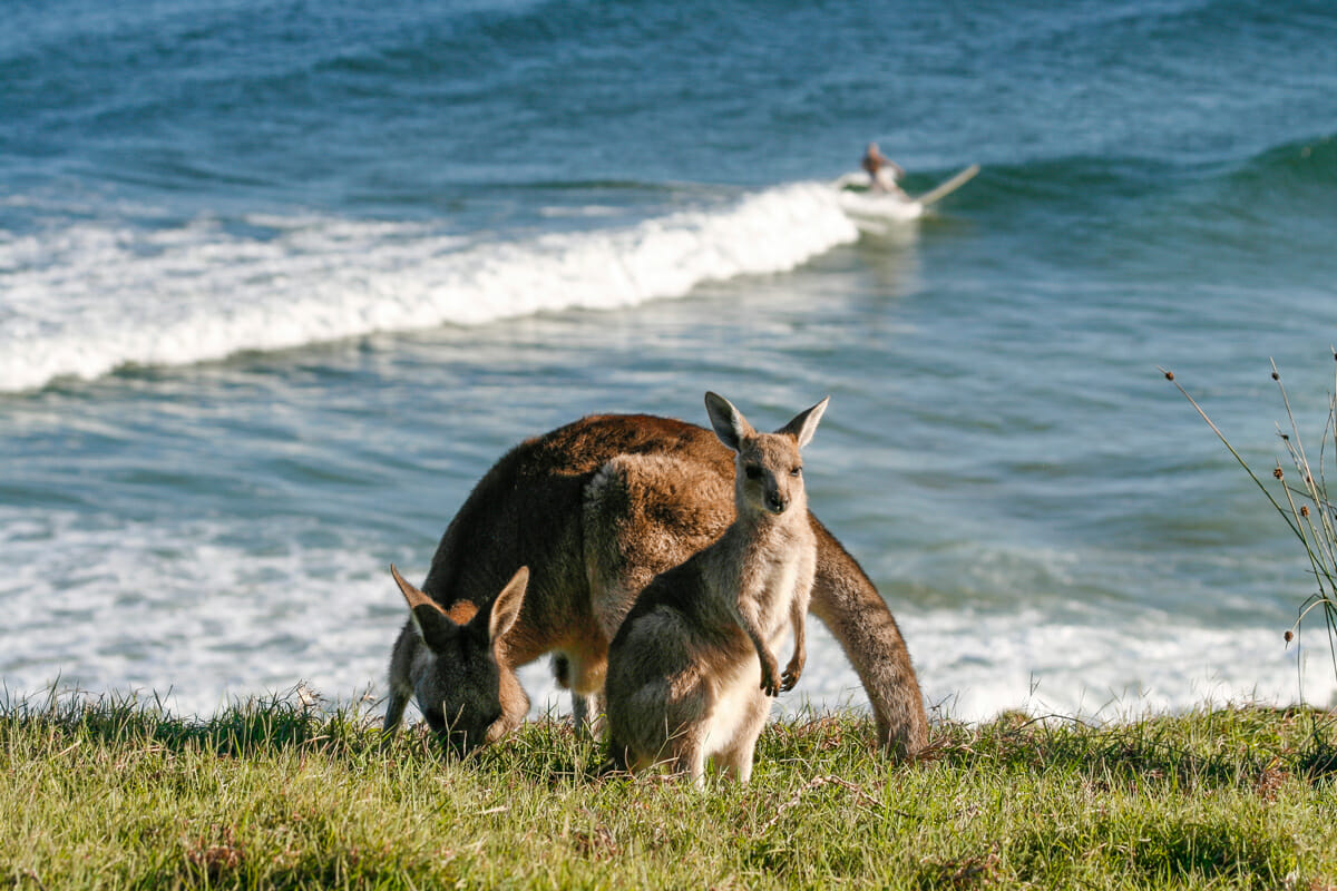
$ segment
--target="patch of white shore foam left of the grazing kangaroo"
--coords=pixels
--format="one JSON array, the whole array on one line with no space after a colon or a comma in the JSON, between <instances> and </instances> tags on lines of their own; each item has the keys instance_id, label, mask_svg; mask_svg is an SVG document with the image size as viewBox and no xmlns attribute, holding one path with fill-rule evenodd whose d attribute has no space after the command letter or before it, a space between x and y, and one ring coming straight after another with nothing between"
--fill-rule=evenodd
<instances>
[{"instance_id":1,"label":"patch of white shore foam left of the grazing kangaroo","mask_svg":"<svg viewBox=\"0 0 1337 891\"><path fill-rule=\"evenodd\" d=\"M308 680L345 700L384 692L401 601L384 560L303 548L274 529L255 553L214 522L162 526L72 513L0 514L0 680L151 696L179 713Z\"/></svg>"}]
</instances>

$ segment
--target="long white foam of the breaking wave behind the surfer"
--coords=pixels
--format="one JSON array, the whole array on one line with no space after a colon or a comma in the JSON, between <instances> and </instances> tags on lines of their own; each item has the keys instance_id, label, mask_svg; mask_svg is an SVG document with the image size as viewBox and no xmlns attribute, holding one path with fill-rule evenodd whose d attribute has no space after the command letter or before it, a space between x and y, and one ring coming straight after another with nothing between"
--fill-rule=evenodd
<instances>
[{"instance_id":1,"label":"long white foam of the breaking wave behind the surfer","mask_svg":"<svg viewBox=\"0 0 1337 891\"><path fill-rule=\"evenodd\" d=\"M0 240L0 390L373 331L631 306L785 271L858 236L818 183L513 242L324 216L246 223L263 235L198 219L151 232L83 222Z\"/></svg>"}]
</instances>

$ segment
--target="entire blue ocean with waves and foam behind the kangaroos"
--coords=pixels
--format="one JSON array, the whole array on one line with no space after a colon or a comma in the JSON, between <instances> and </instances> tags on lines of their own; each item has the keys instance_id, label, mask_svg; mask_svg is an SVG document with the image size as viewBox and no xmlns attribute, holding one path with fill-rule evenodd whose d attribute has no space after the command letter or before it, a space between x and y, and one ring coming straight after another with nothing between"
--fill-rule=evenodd
<instances>
[{"instance_id":1,"label":"entire blue ocean with waves and foam behind the kangaroos","mask_svg":"<svg viewBox=\"0 0 1337 891\"><path fill-rule=\"evenodd\" d=\"M0 683L385 693L472 484L590 413L778 426L931 705L1329 704L1265 474L1337 342L1337 9L21 0ZM877 140L920 218L833 182ZM876 231L872 231L876 230ZM1330 458L1330 453L1328 456ZM864 704L814 621L800 697ZM523 675L562 711L547 665ZM1304 687L1301 687L1304 681Z\"/></svg>"}]
</instances>

